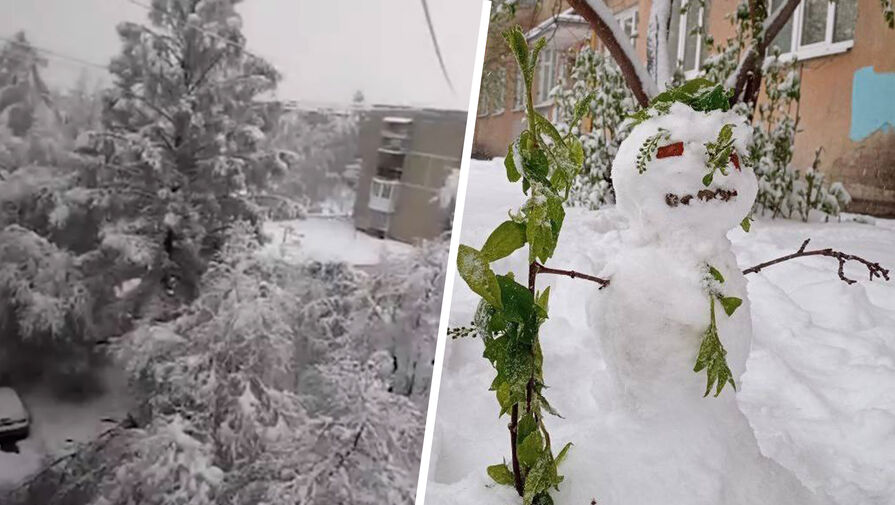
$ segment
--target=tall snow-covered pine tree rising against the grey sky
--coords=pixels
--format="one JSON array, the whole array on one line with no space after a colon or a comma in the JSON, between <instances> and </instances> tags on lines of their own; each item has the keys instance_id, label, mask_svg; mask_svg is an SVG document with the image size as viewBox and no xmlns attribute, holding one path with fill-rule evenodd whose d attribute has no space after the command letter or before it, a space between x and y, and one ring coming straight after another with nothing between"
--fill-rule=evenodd
<instances>
[{"instance_id":1,"label":"tall snow-covered pine tree rising against the grey sky","mask_svg":"<svg viewBox=\"0 0 895 505\"><path fill-rule=\"evenodd\" d=\"M257 222L251 193L288 162L264 148L269 106L259 98L278 75L245 50L237 3L153 0L149 26L120 24L104 130L83 145L101 159L98 185L116 218L103 246L179 299L197 295L234 220Z\"/></svg>"}]
</instances>

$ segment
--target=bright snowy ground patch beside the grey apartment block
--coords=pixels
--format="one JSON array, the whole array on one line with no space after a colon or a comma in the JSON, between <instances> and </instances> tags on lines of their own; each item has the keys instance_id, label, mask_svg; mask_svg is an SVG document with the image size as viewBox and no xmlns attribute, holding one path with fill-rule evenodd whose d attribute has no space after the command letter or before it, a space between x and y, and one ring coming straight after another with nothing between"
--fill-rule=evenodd
<instances>
[{"instance_id":1,"label":"bright snowy ground patch beside the grey apartment block","mask_svg":"<svg viewBox=\"0 0 895 505\"><path fill-rule=\"evenodd\" d=\"M356 230L350 217L269 221L264 224L264 232L271 242L262 254L295 262L343 261L355 266L369 266L378 264L384 257L413 250L410 244L379 239Z\"/></svg>"}]
</instances>

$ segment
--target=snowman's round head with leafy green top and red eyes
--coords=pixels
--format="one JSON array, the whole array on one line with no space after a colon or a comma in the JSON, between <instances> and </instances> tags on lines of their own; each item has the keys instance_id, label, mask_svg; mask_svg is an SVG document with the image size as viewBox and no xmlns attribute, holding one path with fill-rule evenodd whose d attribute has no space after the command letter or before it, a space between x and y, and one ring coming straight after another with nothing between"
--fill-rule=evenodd
<instances>
[{"instance_id":1,"label":"snowman's round head with leafy green top and red eyes","mask_svg":"<svg viewBox=\"0 0 895 505\"><path fill-rule=\"evenodd\" d=\"M659 234L725 233L749 214L758 182L745 163L752 128L720 85L695 79L657 96L612 163L618 209Z\"/></svg>"}]
</instances>

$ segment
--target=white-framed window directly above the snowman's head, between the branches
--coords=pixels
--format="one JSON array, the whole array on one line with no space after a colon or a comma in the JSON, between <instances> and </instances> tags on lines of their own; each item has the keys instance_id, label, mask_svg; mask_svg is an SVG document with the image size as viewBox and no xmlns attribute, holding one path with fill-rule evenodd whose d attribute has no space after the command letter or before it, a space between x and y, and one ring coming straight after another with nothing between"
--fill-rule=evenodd
<instances>
[{"instance_id":1,"label":"white-framed window directly above the snowman's head, between the branches","mask_svg":"<svg viewBox=\"0 0 895 505\"><path fill-rule=\"evenodd\" d=\"M708 7L708 0L675 0L672 3L671 12L675 14L671 16L668 47L677 56L678 64L688 78L695 76L705 57L702 34L706 31Z\"/></svg>"}]
</instances>

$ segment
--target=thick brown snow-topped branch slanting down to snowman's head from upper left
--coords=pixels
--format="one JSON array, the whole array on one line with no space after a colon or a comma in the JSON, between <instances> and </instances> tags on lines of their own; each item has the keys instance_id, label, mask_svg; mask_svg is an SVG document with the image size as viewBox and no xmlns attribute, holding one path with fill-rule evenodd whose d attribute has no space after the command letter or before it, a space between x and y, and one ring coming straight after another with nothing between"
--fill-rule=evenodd
<instances>
[{"instance_id":1,"label":"thick brown snow-topped branch slanting down to snowman's head from upper left","mask_svg":"<svg viewBox=\"0 0 895 505\"><path fill-rule=\"evenodd\" d=\"M656 83L650 78L646 67L637 59L634 46L616 22L606 3L603 0L569 0L569 5L590 23L594 33L606 45L637 102L642 107L649 105L650 99L658 94Z\"/></svg>"}]
</instances>

